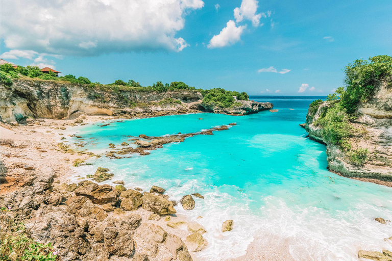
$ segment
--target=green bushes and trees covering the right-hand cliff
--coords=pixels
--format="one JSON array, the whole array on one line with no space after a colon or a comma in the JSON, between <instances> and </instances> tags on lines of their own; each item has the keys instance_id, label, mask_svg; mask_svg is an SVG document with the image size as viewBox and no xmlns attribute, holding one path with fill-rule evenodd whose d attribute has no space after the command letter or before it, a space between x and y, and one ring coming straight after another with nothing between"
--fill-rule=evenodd
<instances>
[{"instance_id":1,"label":"green bushes and trees covering the right-hand cliff","mask_svg":"<svg viewBox=\"0 0 392 261\"><path fill-rule=\"evenodd\" d=\"M367 160L369 151L363 148L352 148L352 142L366 135L361 129L355 128L351 120L355 118L360 102L366 102L374 95L374 86L386 80L391 86L392 57L376 56L366 60L356 60L345 69L345 87L339 87L333 94L328 94L328 102L321 110L321 116L315 126L323 128L323 136L331 144L338 145L346 152L348 161L361 166ZM391 86L392 87L392 86ZM313 101L309 108L314 115L322 100ZM355 141L356 142L356 141Z\"/></svg>"}]
</instances>

